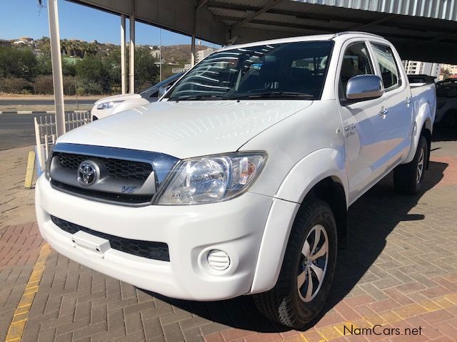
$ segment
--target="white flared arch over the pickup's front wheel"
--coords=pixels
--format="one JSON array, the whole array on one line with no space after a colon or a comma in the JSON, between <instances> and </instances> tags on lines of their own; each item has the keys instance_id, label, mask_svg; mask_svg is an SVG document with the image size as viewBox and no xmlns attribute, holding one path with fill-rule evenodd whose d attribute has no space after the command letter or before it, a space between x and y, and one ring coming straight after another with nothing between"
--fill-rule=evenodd
<instances>
[{"instance_id":1,"label":"white flared arch over the pickup's front wheel","mask_svg":"<svg viewBox=\"0 0 457 342\"><path fill-rule=\"evenodd\" d=\"M250 294L268 291L276 284L293 222L303 200L308 197L317 197L330 205L336 219L338 245L346 247L348 192L344 159L338 158L338 152L331 149L319 150L311 155L314 156L303 158L293 167L273 199ZM342 165L339 164L341 161ZM298 186L300 184L301 187Z\"/></svg>"}]
</instances>

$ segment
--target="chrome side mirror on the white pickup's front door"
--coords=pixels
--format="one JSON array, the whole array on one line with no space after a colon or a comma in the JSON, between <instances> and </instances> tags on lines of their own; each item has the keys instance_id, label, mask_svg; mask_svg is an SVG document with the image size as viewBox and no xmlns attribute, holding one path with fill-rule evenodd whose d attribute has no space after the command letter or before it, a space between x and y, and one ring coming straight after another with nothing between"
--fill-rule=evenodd
<instances>
[{"instance_id":1,"label":"chrome side mirror on the white pickup's front door","mask_svg":"<svg viewBox=\"0 0 457 342\"><path fill-rule=\"evenodd\" d=\"M348 100L370 100L380 98L383 93L383 81L376 75L353 76L346 86Z\"/></svg>"}]
</instances>

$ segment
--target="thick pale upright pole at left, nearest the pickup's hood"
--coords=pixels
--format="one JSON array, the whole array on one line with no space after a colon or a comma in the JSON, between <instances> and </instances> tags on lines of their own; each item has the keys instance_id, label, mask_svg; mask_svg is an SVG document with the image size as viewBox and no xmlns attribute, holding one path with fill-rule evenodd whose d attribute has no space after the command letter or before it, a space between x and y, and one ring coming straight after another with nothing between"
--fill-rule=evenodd
<instances>
[{"instance_id":1,"label":"thick pale upright pole at left, nearest the pickup's hood","mask_svg":"<svg viewBox=\"0 0 457 342\"><path fill-rule=\"evenodd\" d=\"M57 0L48 0L48 16L51 43L52 81L54 83L54 105L56 109L56 133L59 137L65 133L65 108Z\"/></svg>"}]
</instances>

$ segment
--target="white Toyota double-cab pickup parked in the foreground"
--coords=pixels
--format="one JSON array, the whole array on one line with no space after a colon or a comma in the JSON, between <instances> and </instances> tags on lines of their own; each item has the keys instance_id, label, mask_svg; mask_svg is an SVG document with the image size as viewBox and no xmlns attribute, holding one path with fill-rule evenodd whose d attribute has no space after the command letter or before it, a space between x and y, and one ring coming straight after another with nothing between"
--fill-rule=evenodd
<instances>
[{"instance_id":1,"label":"white Toyota double-cab pickup parked in the foreground","mask_svg":"<svg viewBox=\"0 0 457 342\"><path fill-rule=\"evenodd\" d=\"M227 46L158 102L61 136L36 185L39 229L139 288L253 294L303 328L328 296L348 207L391 170L398 191L420 191L435 111L434 85L410 88L380 36Z\"/></svg>"}]
</instances>

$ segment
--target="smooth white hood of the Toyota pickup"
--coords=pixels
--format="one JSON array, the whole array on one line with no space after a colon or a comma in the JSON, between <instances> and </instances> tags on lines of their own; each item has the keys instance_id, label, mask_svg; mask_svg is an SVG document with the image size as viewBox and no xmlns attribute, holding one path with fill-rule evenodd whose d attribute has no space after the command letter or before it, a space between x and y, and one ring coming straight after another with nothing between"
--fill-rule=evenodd
<instances>
[{"instance_id":1,"label":"smooth white hood of the Toyota pickup","mask_svg":"<svg viewBox=\"0 0 457 342\"><path fill-rule=\"evenodd\" d=\"M147 150L180 159L235 152L310 100L160 101L71 130L58 142Z\"/></svg>"}]
</instances>

